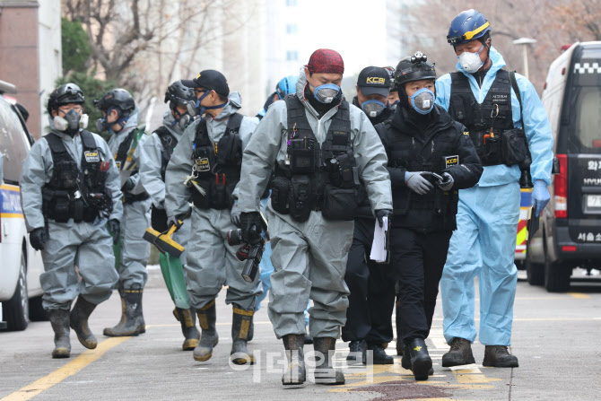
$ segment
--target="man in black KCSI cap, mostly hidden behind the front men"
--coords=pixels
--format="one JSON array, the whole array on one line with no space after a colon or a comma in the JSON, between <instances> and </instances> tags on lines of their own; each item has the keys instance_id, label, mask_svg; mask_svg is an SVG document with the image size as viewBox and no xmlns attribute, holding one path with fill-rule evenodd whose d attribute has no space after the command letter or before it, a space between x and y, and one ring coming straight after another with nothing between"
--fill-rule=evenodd
<instances>
[{"instance_id":1,"label":"man in black KCSI cap, mostly hidden behind the front men","mask_svg":"<svg viewBox=\"0 0 601 401\"><path fill-rule=\"evenodd\" d=\"M374 126L392 118L394 109L387 106L390 75L385 68L369 66L361 70L357 80L357 96L353 105L362 109ZM343 341L350 341L348 361L366 351L373 353L373 363L392 364L394 359L384 351L384 344L392 341L390 317L394 308L395 283L387 265L370 260L371 242L376 218L371 214L370 201L364 187L359 190L359 208L354 219L353 245L349 250L344 282L351 292L346 309L346 324L342 329Z\"/></svg>"}]
</instances>

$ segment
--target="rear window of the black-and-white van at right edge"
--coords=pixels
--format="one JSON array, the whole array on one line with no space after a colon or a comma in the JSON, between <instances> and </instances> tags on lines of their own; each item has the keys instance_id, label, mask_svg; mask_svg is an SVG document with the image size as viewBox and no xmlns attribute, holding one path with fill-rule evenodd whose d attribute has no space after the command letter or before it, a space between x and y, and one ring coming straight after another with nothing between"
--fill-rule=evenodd
<instances>
[{"instance_id":1,"label":"rear window of the black-and-white van at right edge","mask_svg":"<svg viewBox=\"0 0 601 401\"><path fill-rule=\"evenodd\" d=\"M601 153L601 87L578 88L576 121L571 137L571 153Z\"/></svg>"}]
</instances>

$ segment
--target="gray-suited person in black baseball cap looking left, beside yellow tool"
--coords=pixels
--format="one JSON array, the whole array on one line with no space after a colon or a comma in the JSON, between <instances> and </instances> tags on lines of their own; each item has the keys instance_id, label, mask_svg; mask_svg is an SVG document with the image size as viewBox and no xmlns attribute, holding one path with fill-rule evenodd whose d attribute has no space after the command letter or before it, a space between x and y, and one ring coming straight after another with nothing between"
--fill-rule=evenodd
<instances>
[{"instance_id":1,"label":"gray-suited person in black baseball cap looking left, beside yellow tool","mask_svg":"<svg viewBox=\"0 0 601 401\"><path fill-rule=\"evenodd\" d=\"M257 119L238 113L240 94L230 93L225 77L218 71L205 70L194 80L182 83L196 93L196 103L189 103L188 111L205 118L186 128L171 155L165 174L165 207L170 226L187 212L190 198L195 205L185 266L190 305L196 309L202 328L194 359L207 361L213 355L213 346L218 342L215 298L226 284L225 302L233 307L231 361L253 363L247 342L261 282L259 275L253 283L242 278L244 263L234 256L237 248L229 245L227 233L239 223L235 189L240 180L242 150Z\"/></svg>"}]
</instances>

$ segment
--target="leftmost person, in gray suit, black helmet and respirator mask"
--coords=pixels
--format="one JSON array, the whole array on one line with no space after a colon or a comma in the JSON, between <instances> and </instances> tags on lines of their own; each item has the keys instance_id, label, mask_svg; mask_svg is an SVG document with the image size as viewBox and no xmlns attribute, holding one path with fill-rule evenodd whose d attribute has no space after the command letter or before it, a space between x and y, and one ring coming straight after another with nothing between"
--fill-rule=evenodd
<instances>
[{"instance_id":1,"label":"leftmost person, in gray suit, black helmet and respirator mask","mask_svg":"<svg viewBox=\"0 0 601 401\"><path fill-rule=\"evenodd\" d=\"M22 210L31 246L44 261L39 282L55 332L53 358L71 355L69 327L83 346L96 348L88 318L118 280L109 231L118 239L119 173L108 144L84 129L83 101L74 83L50 94L51 131L31 146L22 165Z\"/></svg>"}]
</instances>

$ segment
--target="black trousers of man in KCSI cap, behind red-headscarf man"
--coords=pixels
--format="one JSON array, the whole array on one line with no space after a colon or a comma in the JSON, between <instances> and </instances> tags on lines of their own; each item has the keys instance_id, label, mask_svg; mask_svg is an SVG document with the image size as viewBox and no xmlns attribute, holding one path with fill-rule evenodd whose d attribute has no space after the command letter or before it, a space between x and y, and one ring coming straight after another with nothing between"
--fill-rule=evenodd
<instances>
[{"instance_id":1,"label":"black trousers of man in KCSI cap, behind red-headscarf man","mask_svg":"<svg viewBox=\"0 0 601 401\"><path fill-rule=\"evenodd\" d=\"M370 260L375 220L354 221L353 245L349 250L344 281L349 287L349 307L343 341L365 340L369 344L392 341L392 310L395 307L395 281L390 265Z\"/></svg>"}]
</instances>

